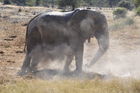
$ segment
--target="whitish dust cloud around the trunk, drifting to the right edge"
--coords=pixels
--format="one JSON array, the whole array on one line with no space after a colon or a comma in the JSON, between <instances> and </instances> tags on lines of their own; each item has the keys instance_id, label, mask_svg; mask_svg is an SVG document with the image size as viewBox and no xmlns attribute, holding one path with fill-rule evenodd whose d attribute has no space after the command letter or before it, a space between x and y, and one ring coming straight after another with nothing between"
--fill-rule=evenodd
<instances>
[{"instance_id":1,"label":"whitish dust cloud around the trunk, drifting to the right edge","mask_svg":"<svg viewBox=\"0 0 140 93\"><path fill-rule=\"evenodd\" d=\"M107 53L91 68L86 68L84 70L87 72L95 72L101 75L105 75L107 78L120 77L120 78L135 78L140 77L140 50L138 49L127 49L126 46L120 44L121 41L111 39L110 48ZM91 47L91 48L90 48ZM91 49L89 52L89 48ZM91 56L97 51L96 48L86 46L85 54L85 64L91 60Z\"/></svg>"}]
</instances>

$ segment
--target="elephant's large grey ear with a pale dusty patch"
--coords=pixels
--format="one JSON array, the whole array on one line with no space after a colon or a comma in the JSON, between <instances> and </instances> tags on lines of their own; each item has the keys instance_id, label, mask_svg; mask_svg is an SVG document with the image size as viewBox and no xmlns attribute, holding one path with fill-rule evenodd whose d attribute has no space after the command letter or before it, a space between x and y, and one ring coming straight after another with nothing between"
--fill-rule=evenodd
<instances>
[{"instance_id":1,"label":"elephant's large grey ear with a pale dusty patch","mask_svg":"<svg viewBox=\"0 0 140 93\"><path fill-rule=\"evenodd\" d=\"M88 39L94 36L94 20L91 16L91 11L89 10L80 10L73 14L68 25L73 31L78 31L80 35Z\"/></svg>"}]
</instances>

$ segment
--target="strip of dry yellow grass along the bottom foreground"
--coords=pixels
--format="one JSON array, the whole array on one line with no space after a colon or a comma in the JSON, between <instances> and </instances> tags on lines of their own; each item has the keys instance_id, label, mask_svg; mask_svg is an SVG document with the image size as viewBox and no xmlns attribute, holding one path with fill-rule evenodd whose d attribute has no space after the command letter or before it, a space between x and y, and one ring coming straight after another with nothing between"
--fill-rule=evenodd
<instances>
[{"instance_id":1,"label":"strip of dry yellow grass along the bottom foreground","mask_svg":"<svg viewBox=\"0 0 140 93\"><path fill-rule=\"evenodd\" d=\"M139 80L19 80L0 85L0 93L140 93Z\"/></svg>"}]
</instances>

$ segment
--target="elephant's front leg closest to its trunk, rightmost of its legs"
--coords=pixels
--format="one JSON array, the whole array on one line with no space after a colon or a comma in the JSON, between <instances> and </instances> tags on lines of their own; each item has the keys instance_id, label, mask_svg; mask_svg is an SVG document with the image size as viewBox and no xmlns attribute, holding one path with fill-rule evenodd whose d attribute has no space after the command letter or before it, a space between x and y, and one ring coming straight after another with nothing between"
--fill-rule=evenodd
<instances>
[{"instance_id":1,"label":"elephant's front leg closest to its trunk, rightmost of its legs","mask_svg":"<svg viewBox=\"0 0 140 93\"><path fill-rule=\"evenodd\" d=\"M78 72L78 73L82 72L83 48L84 48L84 45L82 44L75 53L75 60L76 60L76 70L75 70L75 72Z\"/></svg>"}]
</instances>

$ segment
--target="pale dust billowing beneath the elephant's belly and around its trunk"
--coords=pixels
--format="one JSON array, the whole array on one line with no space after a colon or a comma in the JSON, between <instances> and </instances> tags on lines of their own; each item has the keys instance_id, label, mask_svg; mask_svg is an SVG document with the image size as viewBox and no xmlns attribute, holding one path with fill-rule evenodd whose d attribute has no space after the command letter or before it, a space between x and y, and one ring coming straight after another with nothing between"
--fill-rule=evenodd
<instances>
[{"instance_id":1,"label":"pale dust billowing beneath the elephant's belly and around its trunk","mask_svg":"<svg viewBox=\"0 0 140 93\"><path fill-rule=\"evenodd\" d=\"M39 71L35 74L43 79L64 79L64 78L86 78L92 79L99 75L103 79L113 77L119 78L139 78L139 55L140 50L126 50L123 45L120 45L119 40L110 40L110 48L105 55L90 68L86 65L89 64L94 57L98 44L96 40L92 39L91 43L85 43L84 62L82 74L73 74L75 69L75 60L73 59L70 65L71 72L64 75L63 67L66 61L66 54L72 50L69 46L62 44L60 46L46 48L40 52L41 48L38 47L33 54L35 57L40 58ZM36 52L36 53L35 53Z\"/></svg>"}]
</instances>

